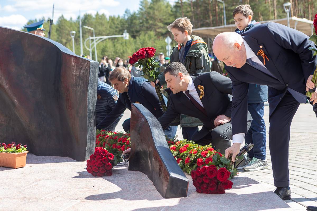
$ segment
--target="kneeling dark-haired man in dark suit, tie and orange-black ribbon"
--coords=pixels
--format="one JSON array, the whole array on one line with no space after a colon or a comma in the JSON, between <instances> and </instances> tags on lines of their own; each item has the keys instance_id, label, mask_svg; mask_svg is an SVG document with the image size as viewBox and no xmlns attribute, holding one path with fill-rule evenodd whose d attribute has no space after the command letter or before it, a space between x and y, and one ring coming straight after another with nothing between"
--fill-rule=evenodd
<instances>
[{"instance_id":1,"label":"kneeling dark-haired man in dark suit, tie and orange-black ribbon","mask_svg":"<svg viewBox=\"0 0 317 211\"><path fill-rule=\"evenodd\" d=\"M167 111L158 118L163 130L178 117L179 114L196 117L204 126L194 133L192 140L200 145L212 144L221 153L231 146L231 101L232 84L218 72L189 75L184 65L172 62L164 70L170 104ZM251 125L249 114L245 126Z\"/></svg>"}]
</instances>

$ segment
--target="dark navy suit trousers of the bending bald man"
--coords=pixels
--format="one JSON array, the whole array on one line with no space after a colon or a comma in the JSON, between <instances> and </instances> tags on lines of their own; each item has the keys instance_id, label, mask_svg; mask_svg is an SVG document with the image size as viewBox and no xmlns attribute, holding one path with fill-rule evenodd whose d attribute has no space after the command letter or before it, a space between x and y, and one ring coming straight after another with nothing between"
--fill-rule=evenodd
<instances>
[{"instance_id":1,"label":"dark navy suit trousers of the bending bald man","mask_svg":"<svg viewBox=\"0 0 317 211\"><path fill-rule=\"evenodd\" d=\"M287 91L269 118L269 145L276 187L289 185L288 146L291 122L300 103Z\"/></svg>"}]
</instances>

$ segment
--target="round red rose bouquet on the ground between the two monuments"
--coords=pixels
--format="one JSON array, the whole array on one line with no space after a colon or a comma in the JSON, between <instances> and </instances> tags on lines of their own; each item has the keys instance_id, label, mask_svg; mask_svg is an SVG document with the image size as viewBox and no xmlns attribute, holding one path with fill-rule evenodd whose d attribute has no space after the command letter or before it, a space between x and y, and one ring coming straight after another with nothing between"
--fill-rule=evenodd
<instances>
[{"instance_id":1,"label":"round red rose bouquet on the ground between the two monuments","mask_svg":"<svg viewBox=\"0 0 317 211\"><path fill-rule=\"evenodd\" d=\"M87 160L87 171L94 177L103 177L112 175L114 155L102 147L96 147L94 154Z\"/></svg>"}]
</instances>

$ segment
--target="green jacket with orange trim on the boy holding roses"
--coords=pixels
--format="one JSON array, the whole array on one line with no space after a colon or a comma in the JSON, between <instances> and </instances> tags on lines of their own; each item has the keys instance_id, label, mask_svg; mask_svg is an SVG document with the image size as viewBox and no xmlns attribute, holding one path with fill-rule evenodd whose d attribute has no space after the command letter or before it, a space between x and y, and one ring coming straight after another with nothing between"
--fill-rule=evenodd
<instances>
[{"instance_id":1,"label":"green jacket with orange trim on the boy holding roses","mask_svg":"<svg viewBox=\"0 0 317 211\"><path fill-rule=\"evenodd\" d=\"M204 42L203 39L201 39L198 36L192 35L191 38L193 39L191 42L191 47L188 50L183 65L185 66L186 70L189 72L190 75L202 72L210 72L211 65L208 56L207 44ZM179 62L179 51L181 47L183 47L183 45L183 43L178 44L177 46L172 48L170 55L170 63ZM159 75L159 82L161 85L166 84L163 73ZM181 127L195 127L202 125L203 123L197 118L186 116L183 114L180 116Z\"/></svg>"}]
</instances>

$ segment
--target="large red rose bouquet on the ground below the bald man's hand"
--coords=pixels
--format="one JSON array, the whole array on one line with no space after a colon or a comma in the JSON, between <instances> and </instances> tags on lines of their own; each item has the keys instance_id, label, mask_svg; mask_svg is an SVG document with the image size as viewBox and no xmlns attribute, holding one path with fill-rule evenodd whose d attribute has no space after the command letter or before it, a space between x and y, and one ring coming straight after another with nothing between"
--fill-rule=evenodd
<instances>
[{"instance_id":1,"label":"large red rose bouquet on the ground below the bald man's hand","mask_svg":"<svg viewBox=\"0 0 317 211\"><path fill-rule=\"evenodd\" d=\"M230 160L220 153L214 154L209 161L191 171L193 185L198 193L223 194L225 189L232 188L230 179L236 175L236 169L232 169Z\"/></svg>"}]
</instances>

